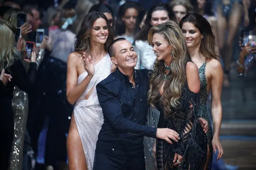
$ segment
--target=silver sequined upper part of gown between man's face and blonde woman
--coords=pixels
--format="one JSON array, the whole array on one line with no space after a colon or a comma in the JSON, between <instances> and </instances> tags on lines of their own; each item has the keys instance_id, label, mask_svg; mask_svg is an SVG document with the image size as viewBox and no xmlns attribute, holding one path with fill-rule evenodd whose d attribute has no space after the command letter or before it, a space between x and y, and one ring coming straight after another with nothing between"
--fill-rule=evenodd
<instances>
[{"instance_id":1,"label":"silver sequined upper part of gown between man's face and blonde woman","mask_svg":"<svg viewBox=\"0 0 256 170\"><path fill-rule=\"evenodd\" d=\"M143 40L136 40L134 50L138 57L135 69L153 69L156 55L149 43Z\"/></svg>"}]
</instances>

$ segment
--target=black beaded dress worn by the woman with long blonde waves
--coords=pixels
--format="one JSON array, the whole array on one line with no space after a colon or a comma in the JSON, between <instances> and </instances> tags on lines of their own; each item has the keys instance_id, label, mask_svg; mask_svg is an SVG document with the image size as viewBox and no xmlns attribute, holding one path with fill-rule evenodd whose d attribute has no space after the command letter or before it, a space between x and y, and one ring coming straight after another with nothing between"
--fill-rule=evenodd
<instances>
[{"instance_id":1,"label":"black beaded dress worn by the woman with long blonde waves","mask_svg":"<svg viewBox=\"0 0 256 170\"><path fill-rule=\"evenodd\" d=\"M164 115L163 105L158 101L160 111L158 128L170 128L179 133L179 141L169 144L157 138L157 170L203 170L207 156L206 134L198 121L198 94L191 92L187 85L182 88L181 106L173 108L169 116ZM159 96L160 97L160 96ZM190 105L193 105L192 107ZM173 166L173 157L183 156L181 166Z\"/></svg>"}]
</instances>

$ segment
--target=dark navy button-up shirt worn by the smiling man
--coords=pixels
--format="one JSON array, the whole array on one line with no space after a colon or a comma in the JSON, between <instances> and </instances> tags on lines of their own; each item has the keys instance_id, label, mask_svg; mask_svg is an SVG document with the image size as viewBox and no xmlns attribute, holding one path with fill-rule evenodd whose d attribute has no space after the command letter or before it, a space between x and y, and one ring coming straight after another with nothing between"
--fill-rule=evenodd
<instances>
[{"instance_id":1,"label":"dark navy button-up shirt worn by the smiling man","mask_svg":"<svg viewBox=\"0 0 256 170\"><path fill-rule=\"evenodd\" d=\"M155 138L155 127L147 123L148 69L135 70L135 88L127 75L117 69L96 86L104 123L99 140L123 145L143 142L143 136Z\"/></svg>"}]
</instances>

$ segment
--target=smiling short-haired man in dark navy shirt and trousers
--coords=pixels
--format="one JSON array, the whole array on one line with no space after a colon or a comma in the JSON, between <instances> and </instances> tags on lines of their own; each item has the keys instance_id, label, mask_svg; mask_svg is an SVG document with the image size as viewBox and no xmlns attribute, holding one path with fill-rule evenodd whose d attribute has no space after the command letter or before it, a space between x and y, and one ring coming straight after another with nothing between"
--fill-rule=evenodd
<instances>
[{"instance_id":1,"label":"smiling short-haired man in dark navy shirt and trousers","mask_svg":"<svg viewBox=\"0 0 256 170\"><path fill-rule=\"evenodd\" d=\"M104 123L95 150L94 170L145 170L143 136L178 141L177 132L146 125L149 69L135 70L133 45L119 38L109 45L117 70L97 84ZM171 139L171 140L170 140Z\"/></svg>"}]
</instances>

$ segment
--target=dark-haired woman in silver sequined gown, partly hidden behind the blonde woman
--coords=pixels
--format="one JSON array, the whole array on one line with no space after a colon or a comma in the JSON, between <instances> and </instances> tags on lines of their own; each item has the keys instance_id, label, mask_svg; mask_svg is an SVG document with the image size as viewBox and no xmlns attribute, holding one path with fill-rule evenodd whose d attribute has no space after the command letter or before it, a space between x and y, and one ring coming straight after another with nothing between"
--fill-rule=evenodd
<instances>
[{"instance_id":1,"label":"dark-haired woman in silver sequined gown, partly hidden behind the blonde woman","mask_svg":"<svg viewBox=\"0 0 256 170\"><path fill-rule=\"evenodd\" d=\"M169 20L174 20L175 16L168 4L160 3L152 6L145 20L145 24L135 38L134 49L137 53L137 64L135 69L153 69L156 59L153 48L147 42L147 34L152 26L157 26ZM147 115L148 126L157 127L159 111L150 107ZM144 137L145 164L147 170L155 170L155 158L153 157L153 145L155 139Z\"/></svg>"}]
</instances>

